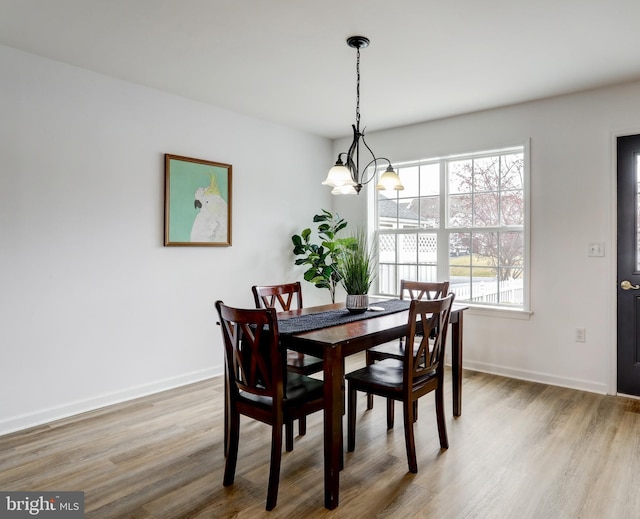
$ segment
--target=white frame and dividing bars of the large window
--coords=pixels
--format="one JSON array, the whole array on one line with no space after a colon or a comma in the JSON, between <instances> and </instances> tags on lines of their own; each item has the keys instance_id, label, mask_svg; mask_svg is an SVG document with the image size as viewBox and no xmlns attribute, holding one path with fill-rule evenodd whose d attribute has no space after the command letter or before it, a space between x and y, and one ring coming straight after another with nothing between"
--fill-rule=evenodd
<instances>
[{"instance_id":1,"label":"white frame and dividing bars of the large window","mask_svg":"<svg viewBox=\"0 0 640 519\"><path fill-rule=\"evenodd\" d=\"M450 160L461 160L461 159L470 159L470 158L481 158L483 156L492 156L496 154L504 154L508 152L522 152L523 160L524 160L524 179L523 179L523 198L524 198L524 222L522 225L522 230L524 233L524 267L523 267L523 296L522 296L522 306L510 305L510 304L487 304L487 303L477 303L472 301L460 301L464 304L469 305L474 309L481 309L485 313L493 313L493 311L499 312L507 312L509 314L526 314L527 316L531 313L530 306L530 144L527 140L522 144L505 146L501 148L483 150L478 152L471 153L462 153L456 155L447 155L442 157L432 157L428 159L418 160L418 161L410 161L403 163L395 163L394 166L399 168L406 168L411 166L420 166L426 165L429 163L438 162L440 164L440 224L437 228L433 229L425 229L425 233L435 233L437 234L438 243L447 244L446 247L439 247L437 253L437 279L440 281L449 279L449 234L455 232L464 232L469 229L478 230L479 228L464 228L460 229L457 227L448 227L448 183L447 183L447 173L446 173L446 162ZM379 174L382 172L379 172ZM373 182L371 183L374 184ZM402 196L402 195L400 195ZM378 196L375 192L375 189L369 190L369 218L368 218L368 227L370 230L371 239L377 243L378 242ZM509 227L483 227L482 230L486 230L488 232L495 230L509 230ZM383 229L383 231L386 231ZM396 230L394 234L402 234L403 231L401 229ZM415 233L415 229L411 230L412 233ZM404 263L403 263L404 264ZM396 257L396 265L398 265L398 258ZM391 296L398 294L380 294L378 282L374 283L372 292L375 292L382 296ZM514 315L517 317L517 315Z\"/></svg>"}]
</instances>

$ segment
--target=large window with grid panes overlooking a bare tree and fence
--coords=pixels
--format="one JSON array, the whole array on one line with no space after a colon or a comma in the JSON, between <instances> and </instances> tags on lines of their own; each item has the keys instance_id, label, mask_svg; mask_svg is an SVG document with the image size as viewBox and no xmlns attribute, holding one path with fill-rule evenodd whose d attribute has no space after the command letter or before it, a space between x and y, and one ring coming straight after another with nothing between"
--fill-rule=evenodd
<instances>
[{"instance_id":1,"label":"large window with grid panes overlooking a bare tree and fence","mask_svg":"<svg viewBox=\"0 0 640 519\"><path fill-rule=\"evenodd\" d=\"M457 301L528 309L523 146L396 165L404 191L376 194L378 292L449 279Z\"/></svg>"}]
</instances>

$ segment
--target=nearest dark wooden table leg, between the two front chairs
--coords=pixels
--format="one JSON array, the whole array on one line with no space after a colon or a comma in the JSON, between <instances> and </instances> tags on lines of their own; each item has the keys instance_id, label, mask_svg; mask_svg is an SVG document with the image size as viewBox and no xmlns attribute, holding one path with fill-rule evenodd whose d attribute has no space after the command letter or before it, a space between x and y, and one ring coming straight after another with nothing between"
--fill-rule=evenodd
<instances>
[{"instance_id":1,"label":"nearest dark wooden table leg, between the two front chairs","mask_svg":"<svg viewBox=\"0 0 640 519\"><path fill-rule=\"evenodd\" d=\"M324 506L338 506L342 460L342 381L344 368L340 348L324 354Z\"/></svg>"}]
</instances>

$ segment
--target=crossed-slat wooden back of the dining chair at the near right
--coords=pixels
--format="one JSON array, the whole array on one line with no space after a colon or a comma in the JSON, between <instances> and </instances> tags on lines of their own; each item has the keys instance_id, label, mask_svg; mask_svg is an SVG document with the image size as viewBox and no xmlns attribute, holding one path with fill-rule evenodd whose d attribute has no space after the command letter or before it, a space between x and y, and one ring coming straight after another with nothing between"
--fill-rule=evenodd
<instances>
[{"instance_id":1,"label":"crossed-slat wooden back of the dining chair at the near right","mask_svg":"<svg viewBox=\"0 0 640 519\"><path fill-rule=\"evenodd\" d=\"M409 308L409 332L405 348L404 369L413 381L444 366L444 349L449 329L454 294L440 299L414 299ZM422 333L416 334L422 325ZM420 341L417 348L415 341Z\"/></svg>"}]
</instances>

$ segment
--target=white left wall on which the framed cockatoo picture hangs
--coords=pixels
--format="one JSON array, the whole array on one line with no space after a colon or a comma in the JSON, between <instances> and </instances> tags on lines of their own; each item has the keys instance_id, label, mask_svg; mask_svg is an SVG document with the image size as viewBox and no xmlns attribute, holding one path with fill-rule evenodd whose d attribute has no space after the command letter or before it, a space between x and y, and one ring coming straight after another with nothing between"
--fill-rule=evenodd
<instances>
[{"instance_id":1,"label":"white left wall on which the framed cockatoo picture hangs","mask_svg":"<svg viewBox=\"0 0 640 519\"><path fill-rule=\"evenodd\" d=\"M213 303L300 278L330 142L7 47L0 70L0 433L221 373ZM163 247L164 153L232 164L231 247Z\"/></svg>"}]
</instances>

